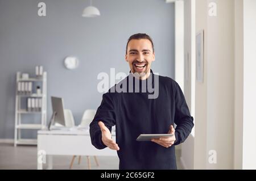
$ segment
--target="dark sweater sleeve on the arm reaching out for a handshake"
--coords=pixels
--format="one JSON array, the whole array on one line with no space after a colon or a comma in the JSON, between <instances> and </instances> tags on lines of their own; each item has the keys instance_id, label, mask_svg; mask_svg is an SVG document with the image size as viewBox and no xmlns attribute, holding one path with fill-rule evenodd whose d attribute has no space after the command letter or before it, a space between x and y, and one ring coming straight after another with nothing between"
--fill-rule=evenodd
<instances>
[{"instance_id":1,"label":"dark sweater sleeve on the arm reaching out for a handshake","mask_svg":"<svg viewBox=\"0 0 256 181\"><path fill-rule=\"evenodd\" d=\"M109 92L102 96L101 105L98 107L92 123L90 123L90 140L92 145L97 149L104 149L106 145L101 140L101 129L98 121L102 121L110 132L115 125L114 104Z\"/></svg>"}]
</instances>

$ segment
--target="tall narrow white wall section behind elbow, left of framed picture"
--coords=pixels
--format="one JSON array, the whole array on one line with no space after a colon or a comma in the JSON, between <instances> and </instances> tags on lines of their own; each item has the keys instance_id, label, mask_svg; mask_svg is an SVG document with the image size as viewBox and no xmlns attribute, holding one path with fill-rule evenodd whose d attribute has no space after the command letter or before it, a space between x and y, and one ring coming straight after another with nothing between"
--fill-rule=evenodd
<instances>
[{"instance_id":1,"label":"tall narrow white wall section behind elbow, left of framed picture","mask_svg":"<svg viewBox=\"0 0 256 181\"><path fill-rule=\"evenodd\" d=\"M184 95L191 115L195 118L195 0L184 0ZM181 144L181 164L184 169L194 169L195 127Z\"/></svg>"}]
</instances>

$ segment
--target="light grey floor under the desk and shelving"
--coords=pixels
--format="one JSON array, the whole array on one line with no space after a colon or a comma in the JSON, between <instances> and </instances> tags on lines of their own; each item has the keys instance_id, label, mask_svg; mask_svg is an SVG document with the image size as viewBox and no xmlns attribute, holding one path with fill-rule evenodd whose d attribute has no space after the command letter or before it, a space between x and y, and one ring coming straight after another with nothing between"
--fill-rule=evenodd
<instances>
[{"instance_id":1,"label":"light grey floor under the desk and shelving","mask_svg":"<svg viewBox=\"0 0 256 181\"><path fill-rule=\"evenodd\" d=\"M0 143L0 170L2 169L20 169L32 170L36 169L36 146L19 145L14 147L13 144ZM180 150L176 150L177 169L182 169L180 164ZM53 169L66 170L69 169L72 156L54 156ZM100 166L96 165L93 157L90 157L92 169L114 170L118 169L119 159L117 157L97 157ZM44 166L46 169L46 166ZM80 165L78 158L73 163L73 169L88 169L87 158L82 157Z\"/></svg>"}]
</instances>

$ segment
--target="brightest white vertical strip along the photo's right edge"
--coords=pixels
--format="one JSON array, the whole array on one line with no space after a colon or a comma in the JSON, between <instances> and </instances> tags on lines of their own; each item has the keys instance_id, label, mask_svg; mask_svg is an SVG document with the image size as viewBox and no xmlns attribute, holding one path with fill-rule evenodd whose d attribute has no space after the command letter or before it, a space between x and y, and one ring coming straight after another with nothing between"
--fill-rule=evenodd
<instances>
[{"instance_id":1,"label":"brightest white vertical strip along the photo's right edge","mask_svg":"<svg viewBox=\"0 0 256 181\"><path fill-rule=\"evenodd\" d=\"M243 163L256 169L256 1L243 1Z\"/></svg>"}]
</instances>

